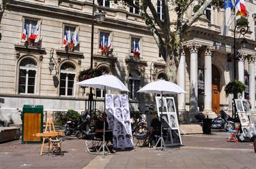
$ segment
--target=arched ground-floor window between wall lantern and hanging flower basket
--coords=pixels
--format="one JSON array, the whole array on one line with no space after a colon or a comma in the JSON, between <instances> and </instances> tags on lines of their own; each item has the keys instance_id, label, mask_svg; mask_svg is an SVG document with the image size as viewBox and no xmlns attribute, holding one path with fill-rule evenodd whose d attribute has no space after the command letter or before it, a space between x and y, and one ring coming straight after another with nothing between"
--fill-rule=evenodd
<instances>
[{"instance_id":1,"label":"arched ground-floor window between wall lantern and hanging flower basket","mask_svg":"<svg viewBox=\"0 0 256 169\"><path fill-rule=\"evenodd\" d=\"M60 96L74 96L74 78L76 72L73 64L66 62L61 65Z\"/></svg>"}]
</instances>

